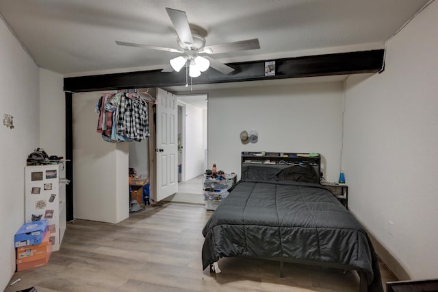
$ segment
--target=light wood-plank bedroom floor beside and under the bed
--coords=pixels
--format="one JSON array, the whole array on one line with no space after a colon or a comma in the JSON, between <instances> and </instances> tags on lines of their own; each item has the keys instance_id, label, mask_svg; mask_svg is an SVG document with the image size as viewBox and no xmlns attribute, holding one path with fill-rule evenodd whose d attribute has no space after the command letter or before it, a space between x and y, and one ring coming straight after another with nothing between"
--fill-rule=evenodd
<instances>
[{"instance_id":1,"label":"light wood-plank bedroom floor beside and under the bed","mask_svg":"<svg viewBox=\"0 0 438 292\"><path fill-rule=\"evenodd\" d=\"M201 230L211 211L196 204L147 206L118 223L68 223L49 264L17 272L7 292L49 291L359 291L357 273L246 258L222 258L222 273L202 270ZM396 280L381 265L383 282Z\"/></svg>"}]
</instances>

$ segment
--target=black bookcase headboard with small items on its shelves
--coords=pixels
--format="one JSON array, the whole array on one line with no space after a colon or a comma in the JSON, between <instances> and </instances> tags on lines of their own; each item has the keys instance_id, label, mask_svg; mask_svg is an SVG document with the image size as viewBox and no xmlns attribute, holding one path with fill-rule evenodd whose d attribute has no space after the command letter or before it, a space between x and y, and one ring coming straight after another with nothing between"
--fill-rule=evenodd
<instances>
[{"instance_id":1,"label":"black bookcase headboard with small items on its shelves","mask_svg":"<svg viewBox=\"0 0 438 292\"><path fill-rule=\"evenodd\" d=\"M321 180L321 156L318 153L291 153L291 152L242 152L241 169L245 166L272 167L285 169L291 165L310 165Z\"/></svg>"}]
</instances>

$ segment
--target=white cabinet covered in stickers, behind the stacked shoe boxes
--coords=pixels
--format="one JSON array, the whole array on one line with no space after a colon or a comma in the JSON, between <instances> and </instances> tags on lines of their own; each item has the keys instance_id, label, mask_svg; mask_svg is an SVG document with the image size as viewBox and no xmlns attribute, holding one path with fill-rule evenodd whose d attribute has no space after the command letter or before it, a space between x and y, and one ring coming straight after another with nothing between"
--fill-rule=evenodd
<instances>
[{"instance_id":1,"label":"white cabinet covered in stickers, behind the stacked shoe boxes","mask_svg":"<svg viewBox=\"0 0 438 292\"><path fill-rule=\"evenodd\" d=\"M65 202L66 179L63 165L25 167L25 221L49 221L53 252L60 249L66 230Z\"/></svg>"}]
</instances>

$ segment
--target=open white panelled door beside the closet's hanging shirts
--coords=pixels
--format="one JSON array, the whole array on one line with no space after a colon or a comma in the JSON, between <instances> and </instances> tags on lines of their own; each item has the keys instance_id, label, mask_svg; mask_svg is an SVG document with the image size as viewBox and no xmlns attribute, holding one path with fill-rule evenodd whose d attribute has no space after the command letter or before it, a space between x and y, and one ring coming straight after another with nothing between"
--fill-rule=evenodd
<instances>
[{"instance_id":1,"label":"open white panelled door beside the closet's hanging shirts","mask_svg":"<svg viewBox=\"0 0 438 292\"><path fill-rule=\"evenodd\" d=\"M157 90L157 201L178 191L177 97Z\"/></svg>"}]
</instances>

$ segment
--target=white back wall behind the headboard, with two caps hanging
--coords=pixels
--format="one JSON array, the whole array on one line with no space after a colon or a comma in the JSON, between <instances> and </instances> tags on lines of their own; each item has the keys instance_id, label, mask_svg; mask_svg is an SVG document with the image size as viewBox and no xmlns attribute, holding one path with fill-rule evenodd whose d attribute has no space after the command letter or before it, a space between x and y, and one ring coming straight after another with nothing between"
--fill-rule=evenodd
<instances>
[{"instance_id":1,"label":"white back wall behind the headboard, with two caps hanging","mask_svg":"<svg viewBox=\"0 0 438 292\"><path fill-rule=\"evenodd\" d=\"M242 151L318 152L324 177L339 179L342 82L209 91L208 165L240 178ZM243 145L240 132L257 130Z\"/></svg>"}]
</instances>

